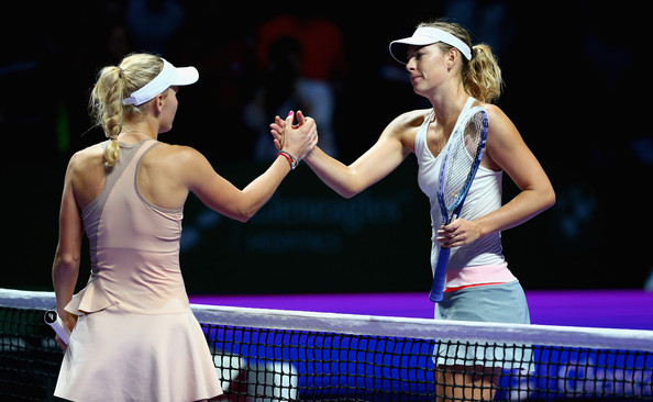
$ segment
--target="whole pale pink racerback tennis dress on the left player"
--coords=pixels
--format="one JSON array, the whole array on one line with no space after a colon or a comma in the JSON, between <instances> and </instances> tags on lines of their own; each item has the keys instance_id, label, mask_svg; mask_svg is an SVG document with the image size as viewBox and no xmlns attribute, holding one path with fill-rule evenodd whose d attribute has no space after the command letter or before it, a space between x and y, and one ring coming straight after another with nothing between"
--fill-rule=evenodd
<instances>
[{"instance_id":1,"label":"whole pale pink racerback tennis dress on the left player","mask_svg":"<svg viewBox=\"0 0 653 402\"><path fill-rule=\"evenodd\" d=\"M182 210L153 205L137 188L141 159L156 144L121 143L102 192L81 211L91 276L66 306L79 317L56 397L182 402L222 393L179 267Z\"/></svg>"}]
</instances>

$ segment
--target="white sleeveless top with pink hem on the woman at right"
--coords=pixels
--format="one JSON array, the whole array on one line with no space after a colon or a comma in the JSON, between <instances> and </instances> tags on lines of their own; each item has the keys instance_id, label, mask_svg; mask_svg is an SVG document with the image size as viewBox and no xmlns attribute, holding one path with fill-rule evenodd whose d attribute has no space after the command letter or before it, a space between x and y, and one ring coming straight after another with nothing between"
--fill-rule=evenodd
<instances>
[{"instance_id":1,"label":"white sleeveless top with pink hem on the woman at right","mask_svg":"<svg viewBox=\"0 0 653 402\"><path fill-rule=\"evenodd\" d=\"M461 111L465 114L476 100L467 99ZM414 153L418 160L418 183L429 197L431 204L431 267L434 270L440 253L440 242L436 232L442 226L442 214L438 203L439 172L449 149L449 142L442 152L434 157L427 145L429 123L434 118L434 111L429 112L427 119L418 130L414 138ZM457 124L456 124L457 125ZM455 130L455 129L454 129ZM501 206L502 171L494 171L483 166L472 182L467 198L461 211L461 219L473 221ZM488 234L475 243L453 247L446 273L446 290L452 291L464 287L478 284L505 283L516 280L507 268L501 248L500 232Z\"/></svg>"}]
</instances>

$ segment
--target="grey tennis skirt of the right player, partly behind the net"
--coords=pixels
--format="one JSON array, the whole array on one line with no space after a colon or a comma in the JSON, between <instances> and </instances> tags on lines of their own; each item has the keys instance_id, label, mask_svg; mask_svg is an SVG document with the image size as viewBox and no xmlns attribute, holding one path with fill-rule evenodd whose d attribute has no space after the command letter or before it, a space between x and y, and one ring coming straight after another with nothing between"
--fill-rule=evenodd
<instances>
[{"instance_id":1,"label":"grey tennis skirt of the right player, partly behind the net","mask_svg":"<svg viewBox=\"0 0 653 402\"><path fill-rule=\"evenodd\" d=\"M464 288L444 293L435 304L435 320L530 324L529 308L519 281ZM484 366L532 371L530 345L441 343L438 366Z\"/></svg>"}]
</instances>

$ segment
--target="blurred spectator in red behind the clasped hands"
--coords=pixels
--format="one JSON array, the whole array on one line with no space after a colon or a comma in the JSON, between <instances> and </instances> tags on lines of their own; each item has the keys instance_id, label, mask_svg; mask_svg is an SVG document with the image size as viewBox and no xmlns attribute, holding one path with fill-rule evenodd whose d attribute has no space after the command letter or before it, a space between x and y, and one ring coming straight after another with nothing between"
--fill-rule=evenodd
<instances>
[{"instance_id":1,"label":"blurred spectator in red behind the clasped hands","mask_svg":"<svg viewBox=\"0 0 653 402\"><path fill-rule=\"evenodd\" d=\"M320 122L320 147L337 156L333 131L335 83L346 69L339 26L320 18L279 15L261 25L255 51L267 82L245 111L247 124L261 127L261 144L254 156L265 160L274 156L268 123L274 114L299 108ZM286 88L281 88L284 85ZM269 114L275 107L283 110Z\"/></svg>"}]
</instances>

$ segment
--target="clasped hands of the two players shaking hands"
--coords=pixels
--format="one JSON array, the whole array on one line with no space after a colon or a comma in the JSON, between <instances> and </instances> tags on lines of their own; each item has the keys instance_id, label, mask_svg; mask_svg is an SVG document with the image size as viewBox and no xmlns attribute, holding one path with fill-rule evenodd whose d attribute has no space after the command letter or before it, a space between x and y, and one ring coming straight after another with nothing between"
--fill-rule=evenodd
<instances>
[{"instance_id":1,"label":"clasped hands of the two players shaking hands","mask_svg":"<svg viewBox=\"0 0 653 402\"><path fill-rule=\"evenodd\" d=\"M294 119L295 113L292 112L285 121L276 116L270 129L276 147L290 153L297 160L301 160L318 144L318 126L313 119L305 116L301 111L297 112L299 124L292 125Z\"/></svg>"}]
</instances>

